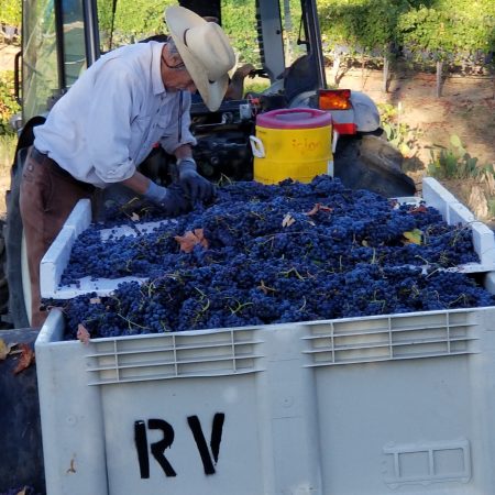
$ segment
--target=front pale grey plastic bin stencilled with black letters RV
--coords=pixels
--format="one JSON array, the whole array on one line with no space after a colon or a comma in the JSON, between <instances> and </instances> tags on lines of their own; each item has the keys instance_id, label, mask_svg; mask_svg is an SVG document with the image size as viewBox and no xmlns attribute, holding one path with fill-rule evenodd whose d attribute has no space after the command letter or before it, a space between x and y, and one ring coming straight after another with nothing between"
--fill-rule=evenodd
<instances>
[{"instance_id":1,"label":"front pale grey plastic bin stencilled with black letters RV","mask_svg":"<svg viewBox=\"0 0 495 495\"><path fill-rule=\"evenodd\" d=\"M495 308L36 341L50 495L493 493Z\"/></svg>"}]
</instances>

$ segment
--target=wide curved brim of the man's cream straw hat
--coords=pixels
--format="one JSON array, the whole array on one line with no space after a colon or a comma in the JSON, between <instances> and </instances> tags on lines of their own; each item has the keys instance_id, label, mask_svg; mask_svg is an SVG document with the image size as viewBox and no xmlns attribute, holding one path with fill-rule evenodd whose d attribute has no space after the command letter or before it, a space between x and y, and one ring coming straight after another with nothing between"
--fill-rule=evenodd
<instances>
[{"instance_id":1,"label":"wide curved brim of the man's cream straw hat","mask_svg":"<svg viewBox=\"0 0 495 495\"><path fill-rule=\"evenodd\" d=\"M210 81L202 62L184 43L184 33L186 30L195 25L204 24L207 21L190 10L179 7L169 7L165 11L165 20L180 58L201 95L205 105L210 111L218 110L229 86L228 74L221 76L216 81Z\"/></svg>"}]
</instances>

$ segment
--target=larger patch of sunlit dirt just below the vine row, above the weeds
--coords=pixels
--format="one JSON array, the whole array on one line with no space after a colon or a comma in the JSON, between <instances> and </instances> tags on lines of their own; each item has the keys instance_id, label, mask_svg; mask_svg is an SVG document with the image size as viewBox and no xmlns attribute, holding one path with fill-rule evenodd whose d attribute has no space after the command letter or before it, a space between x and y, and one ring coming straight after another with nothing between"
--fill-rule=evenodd
<instances>
[{"instance_id":1,"label":"larger patch of sunlit dirt just below the vine row, above the weeds","mask_svg":"<svg viewBox=\"0 0 495 495\"><path fill-rule=\"evenodd\" d=\"M495 81L484 76L450 76L437 97L435 74L394 75L388 92L383 92L382 72L345 73L341 88L369 95L375 102L402 105L402 120L417 136L417 157L426 165L432 145L449 144L459 135L471 156L480 164L495 164Z\"/></svg>"}]
</instances>

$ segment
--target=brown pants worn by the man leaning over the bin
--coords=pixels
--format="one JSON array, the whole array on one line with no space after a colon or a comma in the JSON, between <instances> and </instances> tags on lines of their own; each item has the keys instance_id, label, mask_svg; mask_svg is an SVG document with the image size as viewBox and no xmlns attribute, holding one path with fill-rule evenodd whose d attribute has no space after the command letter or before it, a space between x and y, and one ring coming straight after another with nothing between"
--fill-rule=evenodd
<instances>
[{"instance_id":1,"label":"brown pants worn by the man leaning over the bin","mask_svg":"<svg viewBox=\"0 0 495 495\"><path fill-rule=\"evenodd\" d=\"M20 208L31 278L32 327L41 327L47 317L41 308L40 262L76 202L92 199L94 191L92 186L76 180L48 156L31 147L22 174Z\"/></svg>"}]
</instances>

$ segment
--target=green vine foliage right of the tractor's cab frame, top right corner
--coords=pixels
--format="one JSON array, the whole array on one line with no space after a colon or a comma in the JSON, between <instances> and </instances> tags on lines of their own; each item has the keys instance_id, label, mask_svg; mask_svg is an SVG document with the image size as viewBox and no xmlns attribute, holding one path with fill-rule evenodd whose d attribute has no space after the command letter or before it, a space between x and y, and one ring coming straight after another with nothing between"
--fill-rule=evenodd
<instances>
[{"instance_id":1,"label":"green vine foliage right of the tractor's cab frame, top right corner","mask_svg":"<svg viewBox=\"0 0 495 495\"><path fill-rule=\"evenodd\" d=\"M493 66L493 0L321 0L318 6L329 53Z\"/></svg>"}]
</instances>

